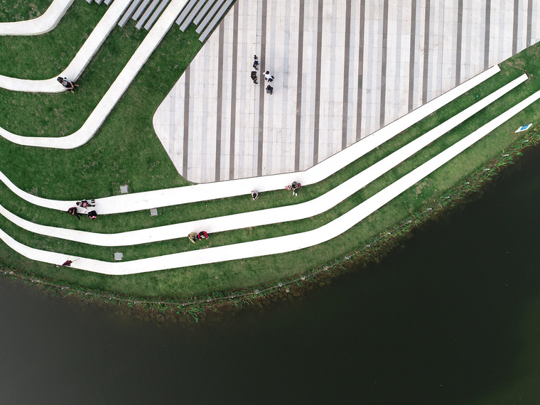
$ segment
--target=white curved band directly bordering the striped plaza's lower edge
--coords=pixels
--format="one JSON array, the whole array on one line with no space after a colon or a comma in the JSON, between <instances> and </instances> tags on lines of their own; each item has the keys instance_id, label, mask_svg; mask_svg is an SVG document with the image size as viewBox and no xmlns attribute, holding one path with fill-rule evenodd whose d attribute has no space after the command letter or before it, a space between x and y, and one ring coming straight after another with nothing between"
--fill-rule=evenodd
<instances>
[{"instance_id":1,"label":"white curved band directly bordering the striped plaza's lower edge","mask_svg":"<svg viewBox=\"0 0 540 405\"><path fill-rule=\"evenodd\" d=\"M146 191L144 193L134 193L126 195L116 195L112 197L99 198L99 214L107 215L119 212L133 212L139 210L149 210L156 207L167 207L171 205L187 204L190 202L215 200L217 198L234 197L237 195L247 195L251 190L259 192L280 190L293 181L309 185L318 183L328 178L328 176L344 168L357 158L364 156L369 151L392 139L397 134L406 130L416 122L426 118L429 114L440 109L453 99L465 94L468 90L479 85L484 80L500 72L500 68L495 65L485 70L480 75L472 77L461 85L431 100L423 106L415 109L410 114L396 119L396 121L384 126L371 136L362 141L345 148L330 158L325 159L316 166L299 173L284 173L279 175L269 175L259 178L243 178L238 180L228 180L217 183L205 183L177 188L166 188L163 190ZM491 96L488 96L491 97ZM487 97L486 97L487 98ZM481 100L480 102L483 102ZM482 104L480 104L482 105ZM18 188L9 178L0 172L0 180L6 184L13 193L16 193L24 200L34 205L49 207L54 210L65 211L73 206L73 201L50 200L27 193ZM90 198L90 196L84 196Z\"/></svg>"}]
</instances>

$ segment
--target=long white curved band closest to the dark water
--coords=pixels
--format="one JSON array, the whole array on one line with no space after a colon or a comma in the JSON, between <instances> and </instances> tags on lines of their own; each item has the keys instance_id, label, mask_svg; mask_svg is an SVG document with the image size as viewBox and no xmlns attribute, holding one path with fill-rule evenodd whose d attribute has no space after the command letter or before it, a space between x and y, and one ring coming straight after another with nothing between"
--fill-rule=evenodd
<instances>
[{"instance_id":1,"label":"long white curved band closest to the dark water","mask_svg":"<svg viewBox=\"0 0 540 405\"><path fill-rule=\"evenodd\" d=\"M136 274L234 259L244 259L247 257L259 257L269 254L292 252L326 242L338 237L340 234L347 231L347 229L350 229L358 222L365 219L365 217L372 214L372 212L396 198L415 183L418 183L421 179L425 178L426 175L433 173L433 171L443 166L443 164L450 161L450 159L458 156L458 154L463 152L466 148L475 144L475 142L496 129L497 126L500 126L508 119L514 117L515 114L521 112L522 109L528 107L538 99L540 99L540 92L536 92L534 95L527 97L527 99L524 99L522 102L519 102L519 104L508 109L507 112L504 112L499 117L480 127L480 129L477 129L472 134L450 146L431 160L414 169L414 171L411 171L399 180L396 180L392 185L384 188L384 190L380 191L372 198L365 200L365 202L357 205L357 207L341 217L338 217L317 229L282 237L230 244L208 249L198 249L190 252L166 254L160 257L150 257L133 261L107 262L84 257L70 257L70 259L74 260L72 267L110 275ZM0 239L8 244L9 247L16 250L16 252L28 257L28 259L44 261L50 264L61 264L66 259L66 254L45 252L16 242L15 239L2 230L0 230Z\"/></svg>"}]
</instances>

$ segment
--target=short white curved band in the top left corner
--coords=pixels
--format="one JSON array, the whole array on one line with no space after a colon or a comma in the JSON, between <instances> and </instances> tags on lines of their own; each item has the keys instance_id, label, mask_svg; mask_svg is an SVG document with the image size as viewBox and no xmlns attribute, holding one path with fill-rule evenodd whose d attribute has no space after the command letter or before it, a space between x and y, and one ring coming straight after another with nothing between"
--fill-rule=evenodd
<instances>
[{"instance_id":1,"label":"short white curved band in the top left corner","mask_svg":"<svg viewBox=\"0 0 540 405\"><path fill-rule=\"evenodd\" d=\"M60 18L70 8L73 0L54 0L38 18L12 23L0 23L0 35L30 36L47 33L58 24Z\"/></svg>"}]
</instances>

